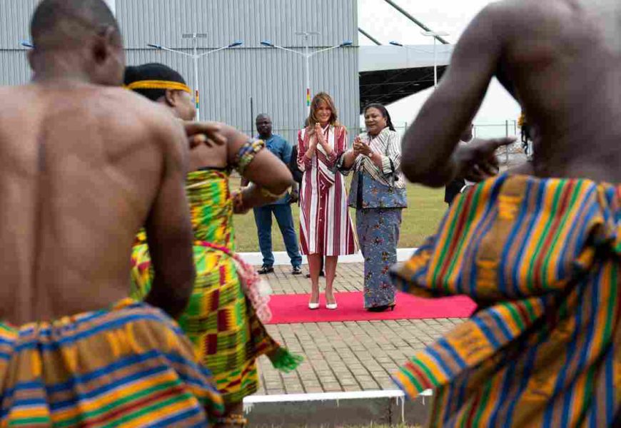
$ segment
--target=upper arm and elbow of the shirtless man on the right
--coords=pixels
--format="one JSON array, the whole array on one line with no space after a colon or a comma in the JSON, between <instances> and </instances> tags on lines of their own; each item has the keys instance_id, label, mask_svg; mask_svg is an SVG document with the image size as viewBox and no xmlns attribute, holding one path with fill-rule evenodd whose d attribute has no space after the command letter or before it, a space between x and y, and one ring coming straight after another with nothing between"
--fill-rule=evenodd
<instances>
[{"instance_id":1,"label":"upper arm and elbow of the shirtless man on the right","mask_svg":"<svg viewBox=\"0 0 621 428\"><path fill-rule=\"evenodd\" d=\"M462 172L460 161L469 157L455 156L455 147L498 68L505 31L502 7L485 7L468 26L438 88L405 133L401 165L411 181L440 187Z\"/></svg>"}]
</instances>

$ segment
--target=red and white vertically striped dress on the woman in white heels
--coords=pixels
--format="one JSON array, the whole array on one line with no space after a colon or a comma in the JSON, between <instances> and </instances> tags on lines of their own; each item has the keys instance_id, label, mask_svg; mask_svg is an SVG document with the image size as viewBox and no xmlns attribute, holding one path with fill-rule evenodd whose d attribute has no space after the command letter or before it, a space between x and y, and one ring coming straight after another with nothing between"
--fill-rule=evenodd
<instances>
[{"instance_id":1,"label":"red and white vertically striped dress on the woman in white heels","mask_svg":"<svg viewBox=\"0 0 621 428\"><path fill-rule=\"evenodd\" d=\"M318 145L312 159L306 157L315 139L304 128L298 132L298 167L303 171L300 191L300 241L302 254L348 255L358 253L347 207L345 179L336 171L336 161L347 150L344 126L326 126L325 140L332 148L328 156Z\"/></svg>"}]
</instances>

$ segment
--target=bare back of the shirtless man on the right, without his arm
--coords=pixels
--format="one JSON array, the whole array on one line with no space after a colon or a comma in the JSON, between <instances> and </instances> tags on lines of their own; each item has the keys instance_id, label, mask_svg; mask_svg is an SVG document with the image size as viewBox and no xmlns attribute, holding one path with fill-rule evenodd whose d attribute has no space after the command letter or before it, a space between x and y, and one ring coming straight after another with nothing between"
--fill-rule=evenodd
<instances>
[{"instance_id":1,"label":"bare back of the shirtless man on the right, without his arm","mask_svg":"<svg viewBox=\"0 0 621 428\"><path fill-rule=\"evenodd\" d=\"M621 183L621 3L499 4L500 78L535 123L537 175ZM520 19L515 17L519 16Z\"/></svg>"}]
</instances>

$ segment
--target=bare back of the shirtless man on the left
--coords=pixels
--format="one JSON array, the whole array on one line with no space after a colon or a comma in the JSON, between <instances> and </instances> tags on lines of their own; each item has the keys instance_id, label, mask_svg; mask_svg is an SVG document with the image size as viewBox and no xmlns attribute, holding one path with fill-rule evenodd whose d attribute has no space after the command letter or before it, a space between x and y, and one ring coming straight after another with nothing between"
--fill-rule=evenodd
<instances>
[{"instance_id":1,"label":"bare back of the shirtless man on the left","mask_svg":"<svg viewBox=\"0 0 621 428\"><path fill-rule=\"evenodd\" d=\"M183 174L181 125L121 88L33 83L0 96L12 100L0 108L0 320L126 297L136 231L165 173Z\"/></svg>"}]
</instances>

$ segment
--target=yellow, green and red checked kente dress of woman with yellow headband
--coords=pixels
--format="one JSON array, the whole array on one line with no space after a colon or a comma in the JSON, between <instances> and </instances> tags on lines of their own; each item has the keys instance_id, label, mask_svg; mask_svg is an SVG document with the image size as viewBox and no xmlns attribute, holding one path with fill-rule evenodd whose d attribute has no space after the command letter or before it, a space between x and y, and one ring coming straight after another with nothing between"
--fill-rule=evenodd
<instances>
[{"instance_id":1,"label":"yellow, green and red checked kente dress of woman with yellow headband","mask_svg":"<svg viewBox=\"0 0 621 428\"><path fill-rule=\"evenodd\" d=\"M256 358L268 355L274 367L295 370L301 357L292 355L266 331L243 291L234 253L233 200L226 170L188 174L196 280L179 324L203 365L216 379L225 404L236 404L258 389ZM225 250L218 249L224 248ZM153 268L146 234L136 238L131 257L132 290L143 298L151 289Z\"/></svg>"}]
</instances>

